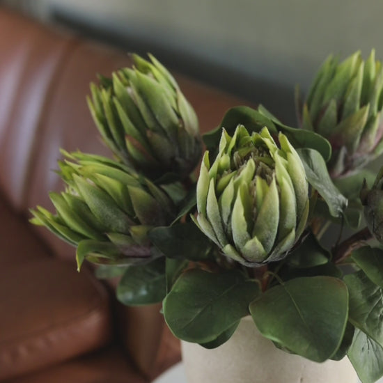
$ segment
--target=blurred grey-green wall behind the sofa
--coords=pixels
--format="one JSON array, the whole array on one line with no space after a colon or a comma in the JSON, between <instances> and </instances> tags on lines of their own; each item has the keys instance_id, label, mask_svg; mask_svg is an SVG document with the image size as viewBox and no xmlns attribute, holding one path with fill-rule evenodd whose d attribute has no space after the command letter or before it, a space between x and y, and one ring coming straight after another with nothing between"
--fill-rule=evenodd
<instances>
[{"instance_id":1,"label":"blurred grey-green wall behind the sofa","mask_svg":"<svg viewBox=\"0 0 383 383\"><path fill-rule=\"evenodd\" d=\"M382 0L9 0L262 102L287 120L329 53L377 49ZM80 29L81 29L80 28Z\"/></svg>"}]
</instances>

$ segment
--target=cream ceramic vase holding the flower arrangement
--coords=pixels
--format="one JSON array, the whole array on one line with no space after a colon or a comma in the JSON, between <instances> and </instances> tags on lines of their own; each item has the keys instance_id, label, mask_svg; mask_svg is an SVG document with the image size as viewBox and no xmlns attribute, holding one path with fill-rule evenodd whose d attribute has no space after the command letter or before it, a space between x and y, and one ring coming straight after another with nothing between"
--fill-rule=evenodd
<instances>
[{"instance_id":1,"label":"cream ceramic vase holding the flower arrangement","mask_svg":"<svg viewBox=\"0 0 383 383\"><path fill-rule=\"evenodd\" d=\"M181 344L187 383L358 382L347 357L319 364L283 352L260 335L251 317L242 319L230 340L213 350Z\"/></svg>"}]
</instances>

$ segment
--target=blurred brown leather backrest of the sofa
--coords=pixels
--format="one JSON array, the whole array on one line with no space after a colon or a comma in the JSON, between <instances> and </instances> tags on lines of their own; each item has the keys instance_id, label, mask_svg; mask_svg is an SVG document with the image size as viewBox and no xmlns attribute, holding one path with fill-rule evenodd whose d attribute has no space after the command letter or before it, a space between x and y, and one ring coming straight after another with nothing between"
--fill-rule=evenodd
<instances>
[{"instance_id":1,"label":"blurred brown leather backrest of the sofa","mask_svg":"<svg viewBox=\"0 0 383 383\"><path fill-rule=\"evenodd\" d=\"M52 208L48 192L62 189L54 173L59 148L109 155L88 112L86 95L97 74L109 76L131 61L117 49L2 8L0 52L0 193L27 215L36 205ZM176 78L203 131L238 104L234 97ZM36 230L58 256L73 257L74 250L47 230Z\"/></svg>"}]
</instances>

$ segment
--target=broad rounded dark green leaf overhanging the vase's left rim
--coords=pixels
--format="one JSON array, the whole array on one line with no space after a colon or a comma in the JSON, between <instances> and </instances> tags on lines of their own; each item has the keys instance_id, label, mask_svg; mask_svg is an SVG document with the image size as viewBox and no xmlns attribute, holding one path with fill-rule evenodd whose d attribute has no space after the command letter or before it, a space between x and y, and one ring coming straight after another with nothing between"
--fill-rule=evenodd
<instances>
[{"instance_id":1,"label":"broad rounded dark green leaf overhanging the vase's left rim","mask_svg":"<svg viewBox=\"0 0 383 383\"><path fill-rule=\"evenodd\" d=\"M184 272L164 299L164 318L175 336L188 342L217 340L242 317L259 286L237 270Z\"/></svg>"}]
</instances>

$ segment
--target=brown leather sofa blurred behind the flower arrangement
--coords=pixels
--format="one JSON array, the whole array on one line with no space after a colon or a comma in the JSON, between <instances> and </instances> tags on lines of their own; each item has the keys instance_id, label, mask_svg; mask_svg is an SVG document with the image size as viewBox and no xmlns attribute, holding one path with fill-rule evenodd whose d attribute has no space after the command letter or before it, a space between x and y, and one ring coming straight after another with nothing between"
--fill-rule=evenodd
<instances>
[{"instance_id":1,"label":"brown leather sofa blurred behind the flower arrangement","mask_svg":"<svg viewBox=\"0 0 383 383\"><path fill-rule=\"evenodd\" d=\"M58 148L109 155L86 107L90 81L125 52L0 8L0 382L148 382L180 359L159 306L125 308L75 249L29 224L61 190ZM201 129L240 102L178 76Z\"/></svg>"}]
</instances>

